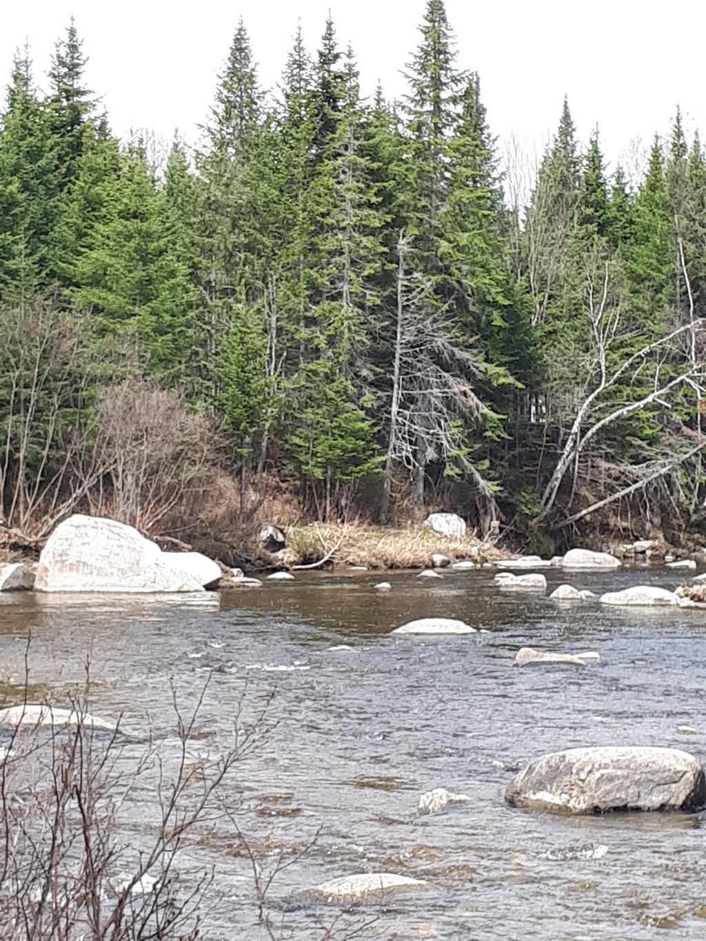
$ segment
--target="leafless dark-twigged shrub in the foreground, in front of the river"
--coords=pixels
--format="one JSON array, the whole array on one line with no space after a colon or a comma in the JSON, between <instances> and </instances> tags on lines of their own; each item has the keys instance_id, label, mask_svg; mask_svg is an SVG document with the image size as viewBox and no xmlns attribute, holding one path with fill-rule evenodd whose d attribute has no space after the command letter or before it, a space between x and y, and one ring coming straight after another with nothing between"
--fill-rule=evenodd
<instances>
[{"instance_id":1,"label":"leafless dark-twigged shrub in the foreground, in front of the river","mask_svg":"<svg viewBox=\"0 0 706 941\"><path fill-rule=\"evenodd\" d=\"M263 740L269 699L231 741L200 752L195 723L206 686L185 714L172 690L176 742L135 749L120 730L94 727L90 680L71 697L71 726L15 728L0 767L0 925L8 941L196 938L213 869L178 869L189 834L233 816L233 768ZM241 700L242 702L242 700ZM48 708L48 707L47 707ZM28 708L25 706L24 710ZM150 824L135 830L137 790ZM237 800L237 799L235 799ZM233 818L234 819L234 818Z\"/></svg>"}]
</instances>

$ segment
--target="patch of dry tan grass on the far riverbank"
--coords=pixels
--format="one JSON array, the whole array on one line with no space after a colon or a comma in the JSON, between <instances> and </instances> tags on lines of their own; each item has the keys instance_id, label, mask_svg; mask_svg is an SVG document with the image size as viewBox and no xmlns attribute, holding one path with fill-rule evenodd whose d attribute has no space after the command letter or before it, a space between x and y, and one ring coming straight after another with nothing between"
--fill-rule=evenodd
<instances>
[{"instance_id":1,"label":"patch of dry tan grass on the far riverbank","mask_svg":"<svg viewBox=\"0 0 706 941\"><path fill-rule=\"evenodd\" d=\"M286 536L287 546L296 552L299 564L323 558L342 537L341 547L334 557L337 567L428 568L434 552L441 552L452 562L460 559L486 562L507 555L471 535L463 539L447 539L422 526L390 529L361 523L347 526L313 523L308 526L290 526Z\"/></svg>"}]
</instances>

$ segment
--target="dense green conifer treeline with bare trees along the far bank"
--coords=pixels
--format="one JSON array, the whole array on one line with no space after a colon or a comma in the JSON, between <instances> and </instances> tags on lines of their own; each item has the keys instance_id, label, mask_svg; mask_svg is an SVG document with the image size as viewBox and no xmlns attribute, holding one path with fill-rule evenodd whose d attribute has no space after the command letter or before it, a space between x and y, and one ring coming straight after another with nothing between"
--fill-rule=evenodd
<instances>
[{"instance_id":1,"label":"dense green conifer treeline with bare trees along the far bank","mask_svg":"<svg viewBox=\"0 0 706 941\"><path fill-rule=\"evenodd\" d=\"M706 157L679 113L633 190L565 101L513 205L441 0L400 102L361 97L330 20L265 92L240 24L202 146L165 167L85 64L73 24L45 94L18 55L0 131L7 522L134 521L149 484L152 524L207 445L243 513L276 473L321 517L444 504L483 535L698 518ZM183 468L160 487L151 444Z\"/></svg>"}]
</instances>

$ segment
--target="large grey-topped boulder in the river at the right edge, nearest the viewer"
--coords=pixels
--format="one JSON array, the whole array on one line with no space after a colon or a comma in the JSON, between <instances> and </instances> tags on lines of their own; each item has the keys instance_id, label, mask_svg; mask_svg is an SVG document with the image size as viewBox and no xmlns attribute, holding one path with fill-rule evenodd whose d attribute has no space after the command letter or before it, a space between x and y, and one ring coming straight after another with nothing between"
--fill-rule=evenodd
<instances>
[{"instance_id":1,"label":"large grey-topped boulder in the river at the right edge, nearest the viewer","mask_svg":"<svg viewBox=\"0 0 706 941\"><path fill-rule=\"evenodd\" d=\"M570 748L528 765L505 801L569 814L698 808L706 781L698 760L675 748Z\"/></svg>"}]
</instances>

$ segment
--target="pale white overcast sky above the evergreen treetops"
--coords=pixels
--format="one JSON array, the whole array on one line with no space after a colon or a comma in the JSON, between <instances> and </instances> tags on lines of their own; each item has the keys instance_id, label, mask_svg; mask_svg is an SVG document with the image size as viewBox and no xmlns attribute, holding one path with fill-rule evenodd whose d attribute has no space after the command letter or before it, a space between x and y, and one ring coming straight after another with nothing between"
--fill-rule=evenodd
<instances>
[{"instance_id":1,"label":"pale white overcast sky above the evergreen treetops","mask_svg":"<svg viewBox=\"0 0 706 941\"><path fill-rule=\"evenodd\" d=\"M312 50L331 10L342 46L358 56L362 88L377 79L399 95L399 70L418 41L425 0L28 0L3 5L0 70L30 42L35 75L45 82L56 37L73 14L89 56L90 88L103 96L113 129L178 128L196 138L242 15L265 87L274 86L301 19ZM693 42L706 31L706 4L678 10L643 0L447 0L458 63L480 73L492 132L515 133L539 149L554 132L565 92L582 138L598 123L615 161L631 141L666 132L681 104L685 125L706 131L702 60ZM687 32L684 33L684 29ZM703 136L706 136L704 134ZM622 159L625 159L623 156Z\"/></svg>"}]
</instances>

